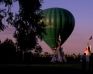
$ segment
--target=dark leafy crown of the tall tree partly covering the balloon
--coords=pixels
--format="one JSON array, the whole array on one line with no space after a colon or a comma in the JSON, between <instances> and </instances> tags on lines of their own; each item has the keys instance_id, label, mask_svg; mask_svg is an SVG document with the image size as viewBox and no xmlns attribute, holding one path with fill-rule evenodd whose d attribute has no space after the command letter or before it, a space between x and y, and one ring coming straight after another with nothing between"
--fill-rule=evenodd
<instances>
[{"instance_id":1,"label":"dark leafy crown of the tall tree partly covering the balloon","mask_svg":"<svg viewBox=\"0 0 93 74\"><path fill-rule=\"evenodd\" d=\"M11 12L11 5L15 1L19 3L19 14L14 16ZM14 37L17 40L17 47L22 51L35 48L37 37L42 38L45 27L40 22L42 19L40 15L41 0L0 0L0 2L8 7L6 21L16 28Z\"/></svg>"}]
</instances>

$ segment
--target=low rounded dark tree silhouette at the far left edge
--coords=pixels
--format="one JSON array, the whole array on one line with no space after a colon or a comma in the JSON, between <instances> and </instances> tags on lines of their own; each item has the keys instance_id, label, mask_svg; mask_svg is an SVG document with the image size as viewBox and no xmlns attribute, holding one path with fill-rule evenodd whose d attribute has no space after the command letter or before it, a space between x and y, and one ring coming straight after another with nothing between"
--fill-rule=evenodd
<instances>
[{"instance_id":1,"label":"low rounded dark tree silhouette at the far left edge","mask_svg":"<svg viewBox=\"0 0 93 74\"><path fill-rule=\"evenodd\" d=\"M16 47L12 40L0 43L0 61L3 64L16 63Z\"/></svg>"}]
</instances>

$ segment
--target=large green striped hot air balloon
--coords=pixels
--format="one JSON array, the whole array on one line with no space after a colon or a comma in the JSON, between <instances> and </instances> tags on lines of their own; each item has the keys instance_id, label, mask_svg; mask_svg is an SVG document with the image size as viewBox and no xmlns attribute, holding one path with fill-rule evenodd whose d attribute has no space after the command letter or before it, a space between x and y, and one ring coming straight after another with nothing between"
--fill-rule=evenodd
<instances>
[{"instance_id":1,"label":"large green striped hot air balloon","mask_svg":"<svg viewBox=\"0 0 93 74\"><path fill-rule=\"evenodd\" d=\"M67 40L74 29L75 20L71 12L63 8L48 8L42 11L42 21L46 25L43 40L51 47L61 45Z\"/></svg>"}]
</instances>

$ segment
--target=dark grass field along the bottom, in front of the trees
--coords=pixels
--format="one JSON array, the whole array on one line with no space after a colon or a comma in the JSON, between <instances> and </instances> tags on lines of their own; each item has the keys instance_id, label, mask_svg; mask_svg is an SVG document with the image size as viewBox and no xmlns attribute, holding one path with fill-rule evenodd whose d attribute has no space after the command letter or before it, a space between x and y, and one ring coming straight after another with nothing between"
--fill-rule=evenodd
<instances>
[{"instance_id":1,"label":"dark grass field along the bottom, in front of the trees","mask_svg":"<svg viewBox=\"0 0 93 74\"><path fill-rule=\"evenodd\" d=\"M61 72L61 73L82 73L81 64L2 64L0 68L8 71L30 71L30 72ZM88 71L85 71L88 72Z\"/></svg>"}]
</instances>

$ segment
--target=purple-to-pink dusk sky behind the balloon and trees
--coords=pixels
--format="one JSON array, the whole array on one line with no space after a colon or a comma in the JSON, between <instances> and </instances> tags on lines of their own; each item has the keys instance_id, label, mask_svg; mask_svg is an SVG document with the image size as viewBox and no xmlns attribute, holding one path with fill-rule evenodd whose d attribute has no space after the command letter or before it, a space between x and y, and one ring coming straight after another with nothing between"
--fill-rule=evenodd
<instances>
[{"instance_id":1,"label":"purple-to-pink dusk sky behind the balloon and trees","mask_svg":"<svg viewBox=\"0 0 93 74\"><path fill-rule=\"evenodd\" d=\"M62 45L64 52L68 54L83 53L89 42L89 37L93 36L93 0L44 0L41 9L53 7L67 9L75 18L75 28ZM17 11L16 9L18 9L17 5L14 6L13 11ZM9 28L7 30L0 33L0 39L13 38L11 36L12 31ZM93 48L93 39L90 41L90 44ZM47 46L43 47L46 48Z\"/></svg>"}]
</instances>

